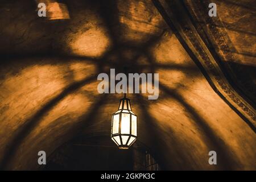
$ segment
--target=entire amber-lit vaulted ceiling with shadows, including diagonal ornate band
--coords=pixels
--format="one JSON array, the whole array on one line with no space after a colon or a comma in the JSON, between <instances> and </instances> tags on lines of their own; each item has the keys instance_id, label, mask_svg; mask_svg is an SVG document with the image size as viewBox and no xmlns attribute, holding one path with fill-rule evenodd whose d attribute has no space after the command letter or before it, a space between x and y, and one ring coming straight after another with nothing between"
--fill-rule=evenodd
<instances>
[{"instance_id":1,"label":"entire amber-lit vaulted ceiling with shadows, including diagonal ornate band","mask_svg":"<svg viewBox=\"0 0 256 182\"><path fill-rule=\"evenodd\" d=\"M138 143L163 169L256 169L255 1L211 2L217 17L208 1L1 1L2 169L38 169L38 151L81 136L110 139L122 95L99 94L97 75L125 66L159 73L158 100L128 97Z\"/></svg>"}]
</instances>

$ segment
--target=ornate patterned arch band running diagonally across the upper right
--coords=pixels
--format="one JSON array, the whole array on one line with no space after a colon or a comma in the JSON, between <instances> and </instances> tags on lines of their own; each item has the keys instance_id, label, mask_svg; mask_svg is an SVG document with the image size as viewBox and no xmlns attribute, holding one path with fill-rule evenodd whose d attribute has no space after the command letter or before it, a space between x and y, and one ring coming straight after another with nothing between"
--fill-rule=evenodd
<instances>
[{"instance_id":1,"label":"ornate patterned arch band running diagonally across the upper right","mask_svg":"<svg viewBox=\"0 0 256 182\"><path fill-rule=\"evenodd\" d=\"M256 133L256 112L230 85L217 61L193 26L187 12L179 1L152 0L177 39L200 68L213 90ZM178 16L178 17L177 17Z\"/></svg>"}]
</instances>

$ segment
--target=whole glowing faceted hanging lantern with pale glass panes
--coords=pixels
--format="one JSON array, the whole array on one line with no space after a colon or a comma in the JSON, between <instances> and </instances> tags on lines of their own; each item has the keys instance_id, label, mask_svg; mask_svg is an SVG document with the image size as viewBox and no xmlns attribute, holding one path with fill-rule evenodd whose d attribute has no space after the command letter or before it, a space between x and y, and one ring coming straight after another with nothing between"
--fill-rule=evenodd
<instances>
[{"instance_id":1,"label":"whole glowing faceted hanging lantern with pale glass panes","mask_svg":"<svg viewBox=\"0 0 256 182\"><path fill-rule=\"evenodd\" d=\"M131 111L130 100L126 96L112 115L111 139L121 149L129 148L137 139L137 115Z\"/></svg>"}]
</instances>

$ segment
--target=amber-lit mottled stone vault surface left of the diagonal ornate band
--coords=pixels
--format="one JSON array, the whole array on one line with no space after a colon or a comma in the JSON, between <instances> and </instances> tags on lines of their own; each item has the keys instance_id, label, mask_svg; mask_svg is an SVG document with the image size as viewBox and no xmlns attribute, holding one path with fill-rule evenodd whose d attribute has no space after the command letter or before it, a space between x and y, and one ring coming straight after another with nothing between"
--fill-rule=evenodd
<instances>
[{"instance_id":1,"label":"amber-lit mottled stone vault surface left of the diagonal ornate band","mask_svg":"<svg viewBox=\"0 0 256 182\"><path fill-rule=\"evenodd\" d=\"M158 100L129 94L138 140L164 169L255 169L253 130L213 91L151 1L67 1L70 19L36 16L36 3L0 13L0 162L38 169L77 135L110 134L118 94L100 95L109 68L155 72ZM110 137L109 137L110 139ZM218 165L208 164L217 151Z\"/></svg>"}]
</instances>

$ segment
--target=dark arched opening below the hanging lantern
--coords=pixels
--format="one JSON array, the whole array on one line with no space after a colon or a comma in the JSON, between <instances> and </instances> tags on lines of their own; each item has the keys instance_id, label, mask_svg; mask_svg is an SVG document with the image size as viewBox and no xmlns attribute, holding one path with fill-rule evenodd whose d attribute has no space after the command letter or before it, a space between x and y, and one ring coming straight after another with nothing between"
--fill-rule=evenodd
<instances>
[{"instance_id":1,"label":"dark arched opening below the hanging lantern","mask_svg":"<svg viewBox=\"0 0 256 182\"><path fill-rule=\"evenodd\" d=\"M146 170L146 153L138 144L121 150L110 137L89 137L57 148L43 170Z\"/></svg>"}]
</instances>

